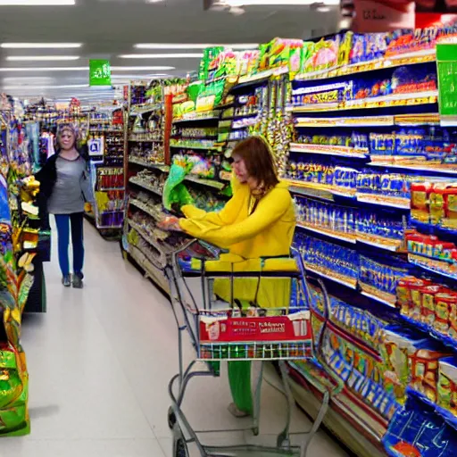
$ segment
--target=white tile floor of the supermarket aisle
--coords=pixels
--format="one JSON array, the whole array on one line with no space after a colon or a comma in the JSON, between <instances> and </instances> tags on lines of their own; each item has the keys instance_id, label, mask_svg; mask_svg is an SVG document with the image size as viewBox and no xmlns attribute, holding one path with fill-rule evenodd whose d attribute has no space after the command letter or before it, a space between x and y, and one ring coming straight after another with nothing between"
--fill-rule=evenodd
<instances>
[{"instance_id":1,"label":"white tile floor of the supermarket aisle","mask_svg":"<svg viewBox=\"0 0 457 457\"><path fill-rule=\"evenodd\" d=\"M48 312L24 320L32 433L1 439L0 457L171 456L167 386L178 370L178 345L170 303L122 260L117 243L85 229L86 287L63 288L54 259L46 265ZM184 408L197 429L236 428L229 399L226 376L196 379ZM280 431L283 402L264 383L262 439ZM294 430L308 427L294 411ZM308 457L346 455L322 431Z\"/></svg>"}]
</instances>

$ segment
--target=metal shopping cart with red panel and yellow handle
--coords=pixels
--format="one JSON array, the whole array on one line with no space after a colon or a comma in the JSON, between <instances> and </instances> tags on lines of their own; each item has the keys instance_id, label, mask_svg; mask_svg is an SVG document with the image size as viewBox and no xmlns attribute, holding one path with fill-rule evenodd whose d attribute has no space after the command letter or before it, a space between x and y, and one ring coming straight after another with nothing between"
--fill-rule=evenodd
<instances>
[{"instance_id":1,"label":"metal shopping cart with red panel and yellow handle","mask_svg":"<svg viewBox=\"0 0 457 457\"><path fill-rule=\"evenodd\" d=\"M219 259L220 250L202 241L192 240L170 255L166 274L170 281L170 300L178 324L179 373L170 380L171 407L169 426L173 432L173 457L216 457L216 456L279 456L305 457L312 437L317 432L325 414L331 395L336 389L324 393L324 400L312 429L304 432L306 439L301 446L290 441L290 422L294 398L288 382L287 360L309 360L320 358L320 335L312 336L308 281L319 284L322 289L326 317L328 317L328 295L319 278L308 277L298 252L290 258L262 258L249 261L254 268L246 271L237 263L212 262ZM255 296L262 281L288 281L290 303L287 307L259 308L255 301L249 309L242 309L237 301L237 283L250 280L257 284ZM229 285L229 299L217 299L214 282L225 281ZM227 287L226 287L227 289ZM288 295L288 294L287 294ZM187 332L195 347L196 358L184 366L183 334ZM314 342L314 343L313 343ZM276 361L287 397L287 420L284 430L278 435L277 446L263 445L204 445L182 411L189 381L197 377L219 376L220 361ZM205 363L201 363L205 362ZM204 369L199 369L202 365ZM263 368L263 363L262 363ZM263 370L260 370L253 395L253 422L249 428L253 436L259 435L260 400ZM234 430L218 430L234 431ZM207 432L206 432L207 433Z\"/></svg>"}]
</instances>

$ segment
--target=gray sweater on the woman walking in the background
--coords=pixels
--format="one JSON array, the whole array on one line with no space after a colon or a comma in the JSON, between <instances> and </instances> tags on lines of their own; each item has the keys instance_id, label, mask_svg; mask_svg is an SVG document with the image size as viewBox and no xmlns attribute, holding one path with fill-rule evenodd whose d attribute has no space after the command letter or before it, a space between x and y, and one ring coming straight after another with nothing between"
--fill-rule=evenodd
<instances>
[{"instance_id":1,"label":"gray sweater on the woman walking in the background","mask_svg":"<svg viewBox=\"0 0 457 457\"><path fill-rule=\"evenodd\" d=\"M94 196L86 161L79 156L70 161L59 156L55 162L57 179L47 202L51 214L84 212L84 203L93 203Z\"/></svg>"}]
</instances>

